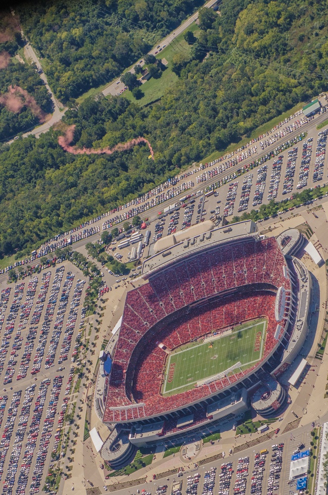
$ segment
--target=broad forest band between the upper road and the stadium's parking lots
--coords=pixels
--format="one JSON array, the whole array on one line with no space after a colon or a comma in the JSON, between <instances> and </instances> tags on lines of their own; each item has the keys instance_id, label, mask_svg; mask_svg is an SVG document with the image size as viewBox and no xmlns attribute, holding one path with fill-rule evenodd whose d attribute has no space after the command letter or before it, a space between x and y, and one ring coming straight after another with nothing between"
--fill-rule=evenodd
<instances>
[{"instance_id":1,"label":"broad forest band between the upper road and the stadium's parking lots","mask_svg":"<svg viewBox=\"0 0 328 495\"><path fill-rule=\"evenodd\" d=\"M61 125L76 125L78 147L112 147L143 136L154 160L146 146L112 155L66 153L57 143L64 127L3 145L1 255L28 252L327 90L326 6L223 0L219 14L201 11L191 56L180 57L178 82L159 102L140 107L98 96L65 113Z\"/></svg>"}]
</instances>

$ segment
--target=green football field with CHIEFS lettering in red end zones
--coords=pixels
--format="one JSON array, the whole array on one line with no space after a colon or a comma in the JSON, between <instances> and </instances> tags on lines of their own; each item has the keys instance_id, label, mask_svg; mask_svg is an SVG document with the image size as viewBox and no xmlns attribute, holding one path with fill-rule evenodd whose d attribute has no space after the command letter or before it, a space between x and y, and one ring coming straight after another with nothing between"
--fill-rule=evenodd
<instances>
[{"instance_id":1,"label":"green football field with CHIEFS lettering in red end zones","mask_svg":"<svg viewBox=\"0 0 328 495\"><path fill-rule=\"evenodd\" d=\"M247 369L262 357L266 328L267 320L261 318L234 327L230 334L213 336L206 343L177 348L166 361L162 394L190 390L197 382L222 373L239 361L241 369Z\"/></svg>"}]
</instances>

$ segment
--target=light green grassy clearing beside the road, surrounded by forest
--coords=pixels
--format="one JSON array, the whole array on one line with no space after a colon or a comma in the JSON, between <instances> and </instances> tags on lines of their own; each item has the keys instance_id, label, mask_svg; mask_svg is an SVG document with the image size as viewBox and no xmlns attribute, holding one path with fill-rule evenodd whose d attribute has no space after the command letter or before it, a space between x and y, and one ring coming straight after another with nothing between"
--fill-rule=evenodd
<instances>
[{"instance_id":1,"label":"light green grassy clearing beside the road, surrounded by forest","mask_svg":"<svg viewBox=\"0 0 328 495\"><path fill-rule=\"evenodd\" d=\"M199 28L195 22L193 22L188 31L192 31L195 36L197 36L197 32ZM164 48L160 53L156 55L157 59L165 58L167 60L166 69L164 70L162 76L159 79L154 79L153 77L146 81L142 86L141 90L144 92L145 96L139 100L136 100L132 95L131 91L124 92L124 97L129 99L130 101L137 102L139 105L144 106L149 103L156 101L164 95L164 92L170 86L173 86L178 81L178 76L172 72L172 58L177 53L177 48L179 50L183 50L184 53L189 54L191 46L185 42L183 38L183 33L181 33L177 38L170 43L166 48Z\"/></svg>"}]
</instances>

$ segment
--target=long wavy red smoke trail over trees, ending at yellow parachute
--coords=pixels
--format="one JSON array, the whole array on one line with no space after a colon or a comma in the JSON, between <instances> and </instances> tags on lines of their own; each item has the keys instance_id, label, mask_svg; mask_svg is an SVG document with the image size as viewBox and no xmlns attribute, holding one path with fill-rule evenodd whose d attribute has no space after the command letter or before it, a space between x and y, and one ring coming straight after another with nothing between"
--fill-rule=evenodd
<instances>
[{"instance_id":1,"label":"long wavy red smoke trail over trees, ending at yellow parachute","mask_svg":"<svg viewBox=\"0 0 328 495\"><path fill-rule=\"evenodd\" d=\"M63 148L65 151L68 151L68 153L73 153L73 154L112 154L115 151L126 151L127 149L131 149L136 145L139 145L140 143L145 143L148 145L150 149L150 154L152 155L152 158L154 160L154 151L153 148L151 147L150 142L146 138L141 138L140 136L135 139L131 139L131 141L128 141L127 143L118 143L118 145L114 146L113 148L100 148L100 149L93 149L93 148L76 148L76 146L70 146L70 143L73 141L74 137L74 129L75 125L71 125L67 128L65 132L65 136L59 136L58 138L58 144Z\"/></svg>"}]
</instances>

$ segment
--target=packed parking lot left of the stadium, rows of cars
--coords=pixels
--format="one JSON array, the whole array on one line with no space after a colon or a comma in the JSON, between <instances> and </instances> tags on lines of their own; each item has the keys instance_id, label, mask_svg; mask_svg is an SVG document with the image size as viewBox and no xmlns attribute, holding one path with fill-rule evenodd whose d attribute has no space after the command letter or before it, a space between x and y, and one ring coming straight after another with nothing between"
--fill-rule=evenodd
<instances>
[{"instance_id":1,"label":"packed parking lot left of the stadium, rows of cars","mask_svg":"<svg viewBox=\"0 0 328 495\"><path fill-rule=\"evenodd\" d=\"M2 493L42 492L69 406L85 281L65 262L0 286Z\"/></svg>"}]
</instances>

